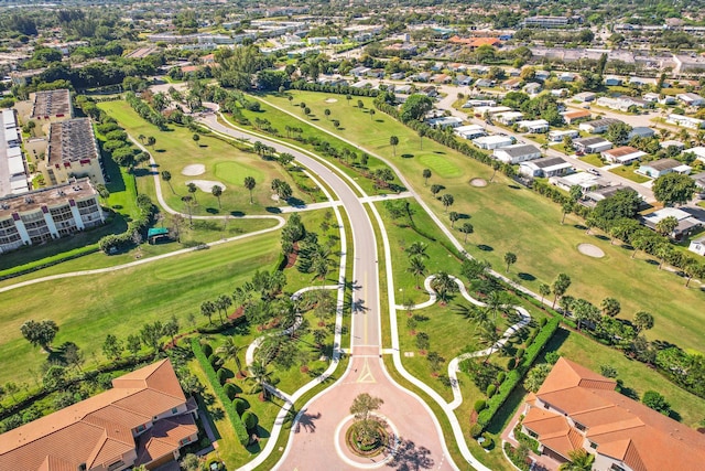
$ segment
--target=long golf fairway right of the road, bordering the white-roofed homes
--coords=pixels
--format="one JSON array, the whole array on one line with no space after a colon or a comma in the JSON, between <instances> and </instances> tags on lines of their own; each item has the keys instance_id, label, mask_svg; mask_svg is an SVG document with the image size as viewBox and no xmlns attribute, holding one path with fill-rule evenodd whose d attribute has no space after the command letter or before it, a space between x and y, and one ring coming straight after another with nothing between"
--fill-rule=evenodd
<instances>
[{"instance_id":1,"label":"long golf fairway right of the road, bordering the white-roofed homes","mask_svg":"<svg viewBox=\"0 0 705 471\"><path fill-rule=\"evenodd\" d=\"M441 178L434 174L429 183L444 185L446 189L441 194L451 193L455 196L455 204L451 211L470 217L475 234L468 238L467 250L473 256L487 259L494 267L502 270L505 253L513 251L519 259L512 267L512 277L533 290L538 290L541 282L552 282L558 272L566 272L573 280L570 295L584 297L594 303L599 303L606 297L615 297L621 301L621 317L626 319L630 319L639 310L652 312L655 327L647 333L650 339L662 339L682 347L703 350L704 338L699 327L705 322L705 310L701 309L705 292L684 289L680 278L665 270L657 270L642 257L631 259L629 250L610 245L608 240L586 235L579 226L579 218L568 216L566 224L561 225L562 214L558 205L516 185L502 175L498 174L495 182L486 188L470 186L468 181L473 178L489 180L491 169L431 139L423 140L422 151L415 132L381 113L375 116L375 121L381 122L372 125L366 109L348 106L339 95L300 92L292 94L294 104L303 100L313 113L323 116L323 109L329 108L333 117L345 117L341 120L345 127L343 131L336 131L325 119L317 121L317 125L393 160L413 188L427 196L426 202L448 226L449 222L447 216L443 215L441 202L424 189L422 170L427 167L420 158L436 153L460 169L462 174L458 176ZM329 97L338 101L326 103L326 98ZM265 99L284 109L297 110L286 98L267 96ZM366 107L371 106L371 99L360 99ZM271 110L264 115L274 126L278 126L281 111ZM400 138L398 156L414 157L393 158L388 143L391 135ZM458 237L462 236L458 233ZM595 259L581 255L576 247L585 242L599 246L606 253L606 257Z\"/></svg>"}]
</instances>

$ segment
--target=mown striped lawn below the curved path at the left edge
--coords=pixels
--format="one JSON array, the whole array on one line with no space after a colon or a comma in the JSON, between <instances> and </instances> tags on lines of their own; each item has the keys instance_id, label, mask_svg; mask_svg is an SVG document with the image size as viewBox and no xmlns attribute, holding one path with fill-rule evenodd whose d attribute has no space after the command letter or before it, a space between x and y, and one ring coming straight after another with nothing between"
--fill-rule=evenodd
<instances>
[{"instance_id":1,"label":"mown striped lawn below the curved path at the left edge","mask_svg":"<svg viewBox=\"0 0 705 471\"><path fill-rule=\"evenodd\" d=\"M0 383L29 381L28 372L39 371L46 358L20 334L28 319L54 320L59 327L54 344L75 342L90 362L91 354L100 355L108 332L126 339L144 323L165 321L172 314L182 329L191 329L187 314L196 313L202 322L202 301L231 293L257 269L271 269L278 254L279 233L274 232L115 272L4 292L0 357L6 367L0 371Z\"/></svg>"}]
</instances>

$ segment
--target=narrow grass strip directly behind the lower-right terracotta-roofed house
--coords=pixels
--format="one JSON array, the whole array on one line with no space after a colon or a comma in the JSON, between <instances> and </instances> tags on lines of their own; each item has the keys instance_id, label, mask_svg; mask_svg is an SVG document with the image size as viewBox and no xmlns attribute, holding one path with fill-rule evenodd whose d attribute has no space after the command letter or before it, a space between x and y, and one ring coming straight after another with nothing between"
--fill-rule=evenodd
<instances>
[{"instance_id":1,"label":"narrow grass strip directly behind the lower-right terracotta-roofed house","mask_svg":"<svg viewBox=\"0 0 705 471\"><path fill-rule=\"evenodd\" d=\"M697 427L703 419L705 399L663 379L657 371L643 363L629 360L612 349L563 329L556 332L546 346L546 352L554 350L566 358L597 373L599 373L600 365L612 366L617 370L617 378L623 381L625 386L632 389L639 397L649 389L658 390L665 396L671 408L680 414L681 421L688 427ZM585 354L585 352L589 352L589 354Z\"/></svg>"}]
</instances>

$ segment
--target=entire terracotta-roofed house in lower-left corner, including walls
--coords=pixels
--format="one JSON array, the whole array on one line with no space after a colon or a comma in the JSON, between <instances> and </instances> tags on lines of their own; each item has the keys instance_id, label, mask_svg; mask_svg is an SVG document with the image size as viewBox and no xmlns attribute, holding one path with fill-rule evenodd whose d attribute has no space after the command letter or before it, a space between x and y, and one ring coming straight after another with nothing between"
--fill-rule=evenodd
<instances>
[{"instance_id":1,"label":"entire terracotta-roofed house in lower-left corner, including walls","mask_svg":"<svg viewBox=\"0 0 705 471\"><path fill-rule=\"evenodd\" d=\"M0 435L0 470L152 469L198 438L169 360L112 381L112 389Z\"/></svg>"}]
</instances>

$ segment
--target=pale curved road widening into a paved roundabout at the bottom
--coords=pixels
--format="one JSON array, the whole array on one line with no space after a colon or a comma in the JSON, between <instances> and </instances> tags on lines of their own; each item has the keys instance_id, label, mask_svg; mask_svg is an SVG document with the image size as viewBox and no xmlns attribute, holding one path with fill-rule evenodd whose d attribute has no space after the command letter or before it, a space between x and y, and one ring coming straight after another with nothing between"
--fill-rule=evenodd
<instances>
[{"instance_id":1,"label":"pale curved road widening into a paved roundabout at the bottom","mask_svg":"<svg viewBox=\"0 0 705 471\"><path fill-rule=\"evenodd\" d=\"M252 136L224 126L216 114L200 119L213 130L236 139ZM282 470L361 469L384 465L380 458L350 458L341 446L340 425L349 416L352 399L360 393L380 397L384 404L379 413L389 418L399 431L401 445L392 465L411 469L457 469L444 452L437 420L416 396L397 385L382 364L379 267L375 229L371 220L350 186L328 167L295 149L267 138L257 137L276 152L289 152L317 178L325 181L345 206L355 247L352 265L351 360L343 378L310 402L300 417L283 458Z\"/></svg>"}]
</instances>

